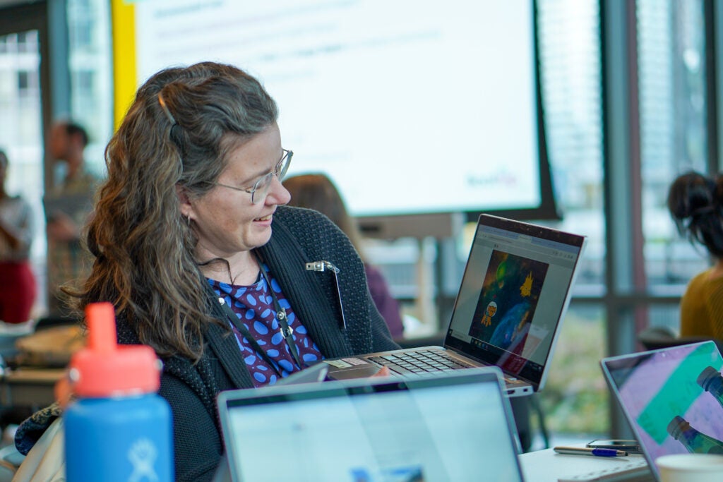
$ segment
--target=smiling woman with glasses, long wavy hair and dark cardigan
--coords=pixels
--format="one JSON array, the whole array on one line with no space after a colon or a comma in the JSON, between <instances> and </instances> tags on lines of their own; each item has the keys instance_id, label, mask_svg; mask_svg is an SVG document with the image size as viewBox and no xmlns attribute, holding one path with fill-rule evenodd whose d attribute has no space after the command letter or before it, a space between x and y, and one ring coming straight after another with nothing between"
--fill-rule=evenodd
<instances>
[{"instance_id":1,"label":"smiling woman with glasses, long wavy hair and dark cardigan","mask_svg":"<svg viewBox=\"0 0 723 482\"><path fill-rule=\"evenodd\" d=\"M218 465L221 390L396 348L348 238L317 212L284 206L292 153L277 115L233 66L171 68L140 87L106 148L87 232L95 264L73 294L81 310L111 301L119 342L161 356L179 481L208 480ZM338 274L307 269L315 262ZM293 334L280 332L285 319Z\"/></svg>"}]
</instances>

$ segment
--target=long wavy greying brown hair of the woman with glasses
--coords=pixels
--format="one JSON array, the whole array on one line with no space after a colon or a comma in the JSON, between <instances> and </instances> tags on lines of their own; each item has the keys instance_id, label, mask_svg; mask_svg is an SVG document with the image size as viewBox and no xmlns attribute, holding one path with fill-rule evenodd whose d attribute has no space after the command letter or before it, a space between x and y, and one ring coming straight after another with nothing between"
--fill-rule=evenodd
<instances>
[{"instance_id":1,"label":"long wavy greying brown hair of the woman with glasses","mask_svg":"<svg viewBox=\"0 0 723 482\"><path fill-rule=\"evenodd\" d=\"M74 307L111 301L141 343L197 360L215 320L177 189L208 193L226 154L277 117L260 82L234 66L202 62L150 77L106 147L108 178L87 225L95 262L82 288L67 290Z\"/></svg>"}]
</instances>

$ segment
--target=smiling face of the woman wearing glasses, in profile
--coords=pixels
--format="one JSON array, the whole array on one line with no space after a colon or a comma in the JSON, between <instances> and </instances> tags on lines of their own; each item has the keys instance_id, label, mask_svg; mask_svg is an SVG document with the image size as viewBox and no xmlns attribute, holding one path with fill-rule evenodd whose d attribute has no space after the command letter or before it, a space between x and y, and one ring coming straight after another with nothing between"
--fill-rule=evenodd
<instances>
[{"instance_id":1,"label":"smiling face of the woman wearing glasses, in profile","mask_svg":"<svg viewBox=\"0 0 723 482\"><path fill-rule=\"evenodd\" d=\"M282 155L281 134L273 124L228 153L226 168L217 182L250 188L258 178L273 171ZM215 186L203 197L188 201L198 236L198 259L228 259L269 241L273 213L278 205L285 205L291 195L273 176L267 194L257 192L255 196L259 199L253 204L248 192Z\"/></svg>"}]
</instances>

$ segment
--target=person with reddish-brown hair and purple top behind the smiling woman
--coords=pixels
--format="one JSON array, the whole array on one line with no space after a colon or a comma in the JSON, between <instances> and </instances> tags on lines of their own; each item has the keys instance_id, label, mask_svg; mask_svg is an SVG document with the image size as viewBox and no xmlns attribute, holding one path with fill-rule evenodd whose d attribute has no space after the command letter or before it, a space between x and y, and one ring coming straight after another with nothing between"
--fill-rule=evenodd
<instances>
[{"instance_id":1,"label":"person with reddish-brown hair and purple top behind the smiling woman","mask_svg":"<svg viewBox=\"0 0 723 482\"><path fill-rule=\"evenodd\" d=\"M333 221L341 231L351 240L356 251L364 260L364 270L367 273L369 292L372 293L377 309L387 322L389 331L395 339L404 334L399 304L389 292L389 286L382 272L364 257L361 246L361 233L356 220L348 214L341 193L328 176L321 173L302 174L292 176L283 181L283 186L291 193L288 205L307 207L317 210Z\"/></svg>"}]
</instances>

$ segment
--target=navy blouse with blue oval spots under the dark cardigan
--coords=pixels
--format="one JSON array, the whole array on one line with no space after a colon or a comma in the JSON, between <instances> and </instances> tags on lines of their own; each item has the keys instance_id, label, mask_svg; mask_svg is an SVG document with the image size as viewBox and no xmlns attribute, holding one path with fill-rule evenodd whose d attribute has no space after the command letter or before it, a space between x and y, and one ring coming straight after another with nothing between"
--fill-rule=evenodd
<instances>
[{"instance_id":1,"label":"navy blouse with blue oval spots under the dark cardigan","mask_svg":"<svg viewBox=\"0 0 723 482\"><path fill-rule=\"evenodd\" d=\"M305 363L313 363L323 358L314 340L309 336L306 327L301 323L294 313L294 309L281 293L275 277L268 271L268 267L262 264L262 270L268 273L271 280L271 288L276 293L279 304L286 309L286 318L289 326L294 330L294 342L299 350L299 356ZM264 277L260 277L256 283L250 286L229 285L216 280L208 279L208 283L215 293L224 299L228 306L236 313L236 316L244 323L249 333L256 339L262 350L275 363L281 376L287 376L299 367L294 362L294 357L289 352L288 344L281 334L281 327L276 319L273 308L273 298L269 286ZM229 322L231 324L231 322ZM274 369L256 353L253 346L241 335L236 327L231 326L236 335L236 341L246 361L246 368L249 370L254 381L254 386L262 387L265 384L274 384L278 375Z\"/></svg>"}]
</instances>

